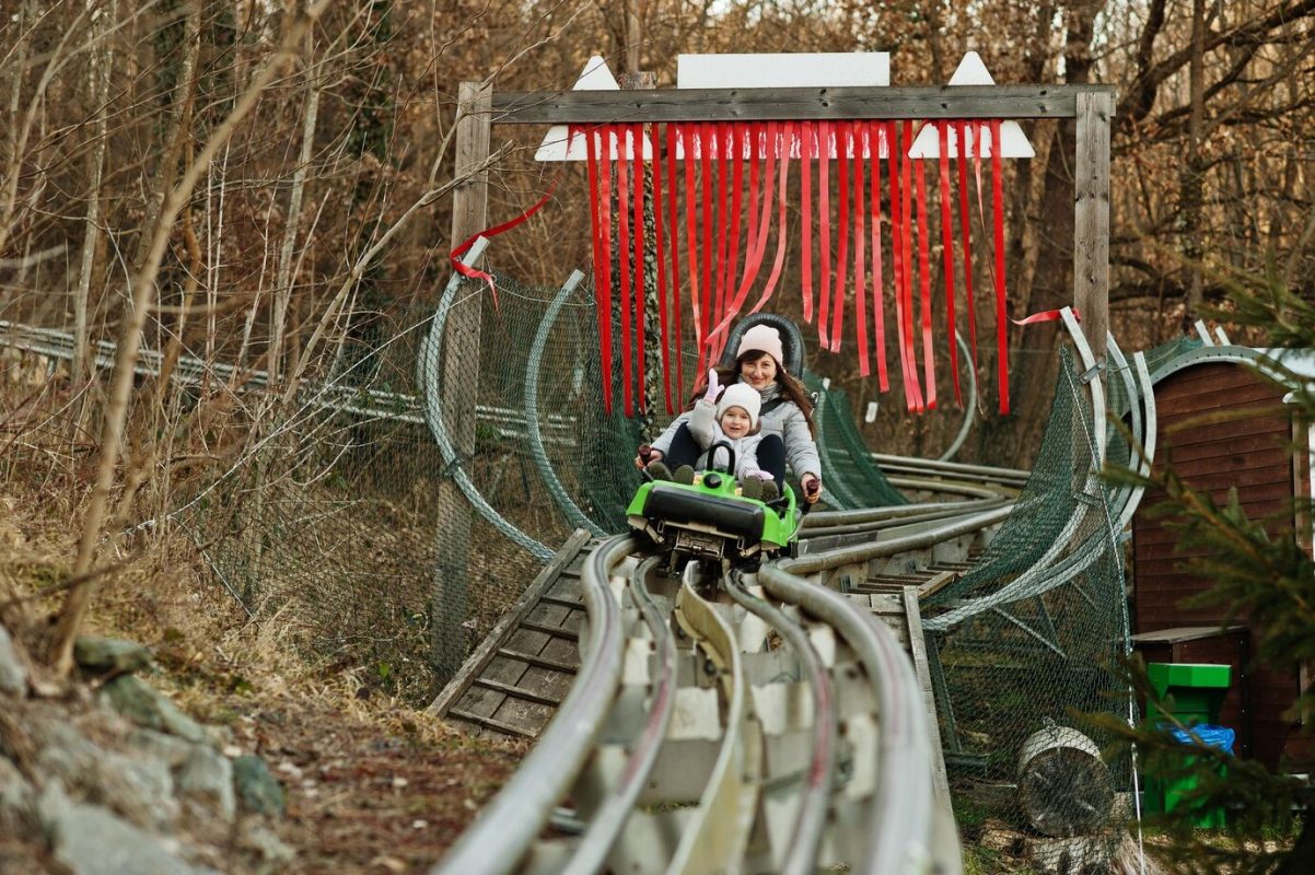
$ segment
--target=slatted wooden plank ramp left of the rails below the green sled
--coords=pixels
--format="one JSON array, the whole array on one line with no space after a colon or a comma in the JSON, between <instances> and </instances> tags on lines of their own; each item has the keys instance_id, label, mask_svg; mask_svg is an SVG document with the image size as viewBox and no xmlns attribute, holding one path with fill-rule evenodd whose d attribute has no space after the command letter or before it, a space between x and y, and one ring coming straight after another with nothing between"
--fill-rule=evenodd
<instances>
[{"instance_id":1,"label":"slatted wooden plank ramp left of the rails below the green sled","mask_svg":"<svg viewBox=\"0 0 1315 875\"><path fill-rule=\"evenodd\" d=\"M576 529L426 709L473 736L537 738L575 682L585 619Z\"/></svg>"}]
</instances>

